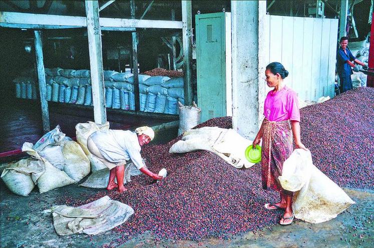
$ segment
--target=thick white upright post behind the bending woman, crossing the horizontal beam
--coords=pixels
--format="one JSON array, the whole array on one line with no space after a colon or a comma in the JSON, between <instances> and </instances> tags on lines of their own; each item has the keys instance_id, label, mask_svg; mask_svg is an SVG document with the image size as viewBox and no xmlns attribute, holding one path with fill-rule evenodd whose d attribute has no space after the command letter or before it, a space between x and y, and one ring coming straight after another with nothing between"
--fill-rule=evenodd
<instances>
[{"instance_id":1,"label":"thick white upright post behind the bending woman, crossing the horizontal beam","mask_svg":"<svg viewBox=\"0 0 374 248\"><path fill-rule=\"evenodd\" d=\"M107 121L104 94L103 54L101 45L101 29L99 23L98 1L85 1L87 16L88 49L92 81L92 100L96 123Z\"/></svg>"}]
</instances>

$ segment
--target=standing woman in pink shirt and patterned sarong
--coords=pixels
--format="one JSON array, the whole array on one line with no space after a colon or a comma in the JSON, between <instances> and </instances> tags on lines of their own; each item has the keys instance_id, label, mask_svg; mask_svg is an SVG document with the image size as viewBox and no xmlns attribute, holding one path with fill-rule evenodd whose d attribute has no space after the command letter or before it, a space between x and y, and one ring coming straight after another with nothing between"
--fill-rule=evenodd
<instances>
[{"instance_id":1,"label":"standing woman in pink shirt and patterned sarong","mask_svg":"<svg viewBox=\"0 0 374 248\"><path fill-rule=\"evenodd\" d=\"M288 71L278 62L270 63L265 71L266 83L270 91L265 99L264 116L261 128L253 141L253 146L262 140L261 179L263 189L271 188L280 193L280 201L266 203L265 207L285 209L280 219L281 225L291 224L293 192L284 190L278 176L282 175L283 162L293 151L292 134L296 148L305 149L300 141L300 112L296 93L284 85Z\"/></svg>"}]
</instances>

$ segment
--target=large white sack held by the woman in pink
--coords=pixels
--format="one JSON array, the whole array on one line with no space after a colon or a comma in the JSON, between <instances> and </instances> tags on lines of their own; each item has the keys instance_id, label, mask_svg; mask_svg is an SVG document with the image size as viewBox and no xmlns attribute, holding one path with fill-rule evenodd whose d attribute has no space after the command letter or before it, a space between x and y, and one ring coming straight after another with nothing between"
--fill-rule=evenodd
<instances>
[{"instance_id":1,"label":"large white sack held by the woman in pink","mask_svg":"<svg viewBox=\"0 0 374 248\"><path fill-rule=\"evenodd\" d=\"M335 218L355 203L312 164L310 151L296 149L287 160L283 164L284 173L279 176L282 187L296 190L303 184L293 197L292 209L296 218L321 223Z\"/></svg>"}]
</instances>

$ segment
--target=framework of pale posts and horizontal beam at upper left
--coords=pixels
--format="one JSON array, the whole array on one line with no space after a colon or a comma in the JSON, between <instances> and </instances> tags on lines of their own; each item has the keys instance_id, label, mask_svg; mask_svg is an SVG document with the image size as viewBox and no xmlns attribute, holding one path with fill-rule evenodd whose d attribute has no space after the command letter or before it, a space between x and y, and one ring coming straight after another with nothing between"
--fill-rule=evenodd
<instances>
[{"instance_id":1,"label":"framework of pale posts and horizontal beam at upper left","mask_svg":"<svg viewBox=\"0 0 374 248\"><path fill-rule=\"evenodd\" d=\"M52 1L51 1L52 2ZM0 27L16 29L34 29L36 58L39 78L39 88L42 103L42 117L44 131L49 131L50 122L48 114L48 102L46 101L45 72L43 63L43 46L41 35L44 29L67 29L67 28L87 28L90 53L90 69L94 102L95 122L104 123L106 121L106 108L104 96L104 77L103 77L103 58L101 45L101 30L106 31L130 31L132 32L133 47L133 68L134 68L134 85L136 96L135 114L140 113L139 103L139 83L138 83L138 58L137 45L138 33L136 29L182 29L183 34L183 52L184 52L184 75L185 75L185 102L192 103L192 17L191 1L181 1L182 3L182 22L180 21L163 21L163 20L143 20L152 3L149 4L140 19L135 19L135 2L131 1L132 19L120 18L100 18L99 12L115 1L108 1L99 7L98 1L85 1L86 17L60 16L60 15L43 15L16 12L0 12ZM117 3L116 3L117 4ZM50 6L50 3L49 3ZM174 45L174 44L173 44ZM147 115L146 115L147 116ZM157 116L149 113L149 116Z\"/></svg>"}]
</instances>

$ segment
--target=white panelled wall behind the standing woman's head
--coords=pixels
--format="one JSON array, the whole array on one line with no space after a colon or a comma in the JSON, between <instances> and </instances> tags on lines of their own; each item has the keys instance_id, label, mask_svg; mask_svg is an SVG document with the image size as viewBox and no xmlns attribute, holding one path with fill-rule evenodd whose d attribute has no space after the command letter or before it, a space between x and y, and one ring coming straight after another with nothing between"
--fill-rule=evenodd
<instances>
[{"instance_id":1,"label":"white panelled wall behind the standing woman's head","mask_svg":"<svg viewBox=\"0 0 374 248\"><path fill-rule=\"evenodd\" d=\"M285 83L301 100L334 96L337 19L266 16L268 63L289 72ZM261 46L261 43L259 44ZM264 72L263 72L264 75ZM261 78L262 80L262 78ZM259 82L261 83L261 82ZM262 80L265 94L270 90Z\"/></svg>"}]
</instances>

